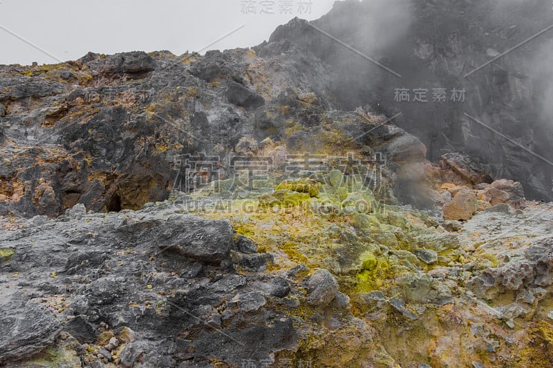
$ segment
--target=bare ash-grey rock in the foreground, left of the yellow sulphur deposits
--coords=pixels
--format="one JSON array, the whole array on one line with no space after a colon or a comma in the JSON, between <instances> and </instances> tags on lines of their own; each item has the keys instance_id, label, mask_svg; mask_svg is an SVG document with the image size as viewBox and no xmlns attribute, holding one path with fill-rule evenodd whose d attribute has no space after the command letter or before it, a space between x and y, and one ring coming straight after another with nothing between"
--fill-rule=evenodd
<instances>
[{"instance_id":1,"label":"bare ash-grey rock in the foreground, left of the yellow sulphur deposits","mask_svg":"<svg viewBox=\"0 0 553 368\"><path fill-rule=\"evenodd\" d=\"M240 365L294 354L317 328L297 320L297 303L324 313L337 295L335 278L315 271L305 296L301 277L231 260L229 252L255 249L247 238L234 243L229 222L180 211L87 214L78 205L2 238L1 249L14 252L0 273L18 276L0 289L7 300L0 307L0 365L32 364L39 352L87 367L197 366L214 356ZM266 262L266 255L245 256ZM13 293L17 285L24 290ZM339 320L348 325L355 318L344 311Z\"/></svg>"}]
</instances>

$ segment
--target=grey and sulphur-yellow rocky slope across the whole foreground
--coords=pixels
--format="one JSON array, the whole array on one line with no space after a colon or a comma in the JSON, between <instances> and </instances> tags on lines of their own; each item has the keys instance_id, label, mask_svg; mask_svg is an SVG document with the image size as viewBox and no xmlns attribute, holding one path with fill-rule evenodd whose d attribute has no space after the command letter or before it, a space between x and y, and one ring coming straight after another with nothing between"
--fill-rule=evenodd
<instances>
[{"instance_id":1,"label":"grey and sulphur-yellow rocky slope across the whole foreground","mask_svg":"<svg viewBox=\"0 0 553 368\"><path fill-rule=\"evenodd\" d=\"M497 204L461 223L379 206L362 175L298 174L12 223L0 360L550 367L553 204Z\"/></svg>"}]
</instances>

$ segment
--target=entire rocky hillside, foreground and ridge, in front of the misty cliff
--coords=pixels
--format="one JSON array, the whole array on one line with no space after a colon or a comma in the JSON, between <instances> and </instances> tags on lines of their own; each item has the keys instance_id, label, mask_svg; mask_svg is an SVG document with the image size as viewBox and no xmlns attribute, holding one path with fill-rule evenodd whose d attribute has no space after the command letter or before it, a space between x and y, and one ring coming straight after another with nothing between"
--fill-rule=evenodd
<instances>
[{"instance_id":1,"label":"entire rocky hillside, foreground and ridge, in front of the misty cliff","mask_svg":"<svg viewBox=\"0 0 553 368\"><path fill-rule=\"evenodd\" d=\"M0 67L0 366L551 367L553 204L306 27Z\"/></svg>"}]
</instances>

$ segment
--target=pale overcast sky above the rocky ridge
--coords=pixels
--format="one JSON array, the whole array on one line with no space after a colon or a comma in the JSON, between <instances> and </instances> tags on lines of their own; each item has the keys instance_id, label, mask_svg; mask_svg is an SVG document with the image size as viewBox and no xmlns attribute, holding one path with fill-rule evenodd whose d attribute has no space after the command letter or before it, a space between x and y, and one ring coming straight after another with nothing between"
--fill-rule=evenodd
<instances>
[{"instance_id":1,"label":"pale overcast sky above the rocky ridge","mask_svg":"<svg viewBox=\"0 0 553 368\"><path fill-rule=\"evenodd\" d=\"M293 17L321 17L334 1L0 0L0 64L53 64L88 51L169 50L181 55L241 26L208 50L255 46Z\"/></svg>"}]
</instances>

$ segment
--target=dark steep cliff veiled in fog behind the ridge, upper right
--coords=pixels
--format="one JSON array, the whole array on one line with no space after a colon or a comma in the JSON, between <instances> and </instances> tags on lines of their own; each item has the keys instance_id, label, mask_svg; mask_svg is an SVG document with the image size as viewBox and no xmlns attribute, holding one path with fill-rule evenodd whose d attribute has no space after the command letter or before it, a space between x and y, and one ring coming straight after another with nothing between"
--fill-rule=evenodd
<instances>
[{"instance_id":1,"label":"dark steep cliff veiled in fog behind the ridge, upper right","mask_svg":"<svg viewBox=\"0 0 553 368\"><path fill-rule=\"evenodd\" d=\"M518 43L553 23L550 1L346 1L313 21L372 61L307 26L283 26L272 41L286 38L333 66L341 108L371 104L422 139L429 159L466 151L492 177L514 177L529 197L552 198L551 30L505 56ZM474 71L482 64L489 65ZM467 75L471 73L470 75ZM465 77L465 75L467 75ZM411 103L395 99L411 90ZM432 103L433 88L465 88L462 103ZM413 103L413 90L427 90L429 103ZM465 114L514 139L508 142Z\"/></svg>"}]
</instances>

